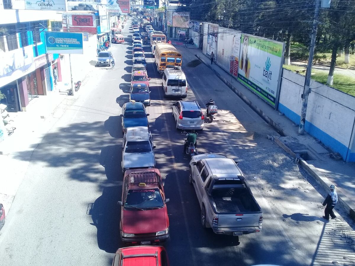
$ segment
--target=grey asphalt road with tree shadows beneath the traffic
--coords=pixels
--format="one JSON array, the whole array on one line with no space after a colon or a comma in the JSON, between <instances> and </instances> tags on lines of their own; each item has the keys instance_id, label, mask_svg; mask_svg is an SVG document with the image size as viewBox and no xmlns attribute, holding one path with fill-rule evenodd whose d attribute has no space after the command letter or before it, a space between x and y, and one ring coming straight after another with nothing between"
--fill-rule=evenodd
<instances>
[{"instance_id":1,"label":"grey asphalt road with tree shadows beneath the traffic","mask_svg":"<svg viewBox=\"0 0 355 266\"><path fill-rule=\"evenodd\" d=\"M187 179L189 160L182 153L185 135L176 131L171 116L174 100L163 97L160 74L149 47L144 50L152 78L147 110L156 166L170 198L171 237L164 246L171 265L333 265L330 256L335 255L323 244L349 226L344 220L324 223L324 192L266 137L277 133L209 68L189 64L196 59L193 50L181 48L187 99L203 106L212 97L220 110L198 135L199 151L239 161L264 213L262 232L239 242L201 227L200 207ZM122 247L116 204L122 185L119 115L128 101L132 55L130 43L113 44L112 51L115 69L95 68L76 102L66 106L35 148L1 231L1 265L111 265ZM337 255L340 262L352 256L351 244L346 248Z\"/></svg>"}]
</instances>

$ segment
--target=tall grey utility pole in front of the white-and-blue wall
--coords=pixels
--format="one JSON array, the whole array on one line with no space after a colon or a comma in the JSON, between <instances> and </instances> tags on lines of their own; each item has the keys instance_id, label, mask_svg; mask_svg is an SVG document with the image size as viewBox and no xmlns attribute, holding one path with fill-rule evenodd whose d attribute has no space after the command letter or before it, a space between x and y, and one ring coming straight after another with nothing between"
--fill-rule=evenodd
<instances>
[{"instance_id":1,"label":"tall grey utility pole in front of the white-and-blue wall","mask_svg":"<svg viewBox=\"0 0 355 266\"><path fill-rule=\"evenodd\" d=\"M301 117L300 117L300 127L298 129L298 133L300 135L303 135L305 132L308 95L310 93L313 55L314 55L314 49L316 46L316 35L317 35L317 28L318 28L318 17L319 17L320 5L321 5L321 0L316 0L316 7L315 7L315 11L314 11L313 26L312 26L312 36L311 36L311 43L310 43L310 56L308 57L305 85L304 85L303 94L302 94L302 109L301 109Z\"/></svg>"}]
</instances>

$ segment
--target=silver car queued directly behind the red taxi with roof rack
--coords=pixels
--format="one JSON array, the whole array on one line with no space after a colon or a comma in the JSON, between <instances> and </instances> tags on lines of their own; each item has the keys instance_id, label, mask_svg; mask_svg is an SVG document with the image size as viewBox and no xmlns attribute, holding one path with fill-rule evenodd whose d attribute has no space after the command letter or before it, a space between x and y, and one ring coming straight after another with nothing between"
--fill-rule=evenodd
<instances>
[{"instance_id":1,"label":"silver car queued directly behind the red taxi with roof rack","mask_svg":"<svg viewBox=\"0 0 355 266\"><path fill-rule=\"evenodd\" d=\"M154 168L154 148L148 127L127 128L122 141L122 173L129 169Z\"/></svg>"}]
</instances>

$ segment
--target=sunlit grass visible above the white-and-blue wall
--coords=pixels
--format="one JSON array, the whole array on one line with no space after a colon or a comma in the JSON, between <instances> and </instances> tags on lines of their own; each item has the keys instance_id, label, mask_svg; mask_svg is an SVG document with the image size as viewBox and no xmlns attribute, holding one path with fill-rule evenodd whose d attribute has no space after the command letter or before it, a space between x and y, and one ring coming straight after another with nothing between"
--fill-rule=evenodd
<instances>
[{"instance_id":1,"label":"sunlit grass visible above the white-and-blue wall","mask_svg":"<svg viewBox=\"0 0 355 266\"><path fill-rule=\"evenodd\" d=\"M296 70L304 69L302 66L295 66L295 65L283 65L283 68L296 72ZM306 72L299 72L302 76L306 75ZM327 84L328 79L328 71L322 70L312 70L312 79L322 84ZM355 78L345 76L342 74L334 74L334 83L333 88L345 92L347 94L355 96Z\"/></svg>"}]
</instances>

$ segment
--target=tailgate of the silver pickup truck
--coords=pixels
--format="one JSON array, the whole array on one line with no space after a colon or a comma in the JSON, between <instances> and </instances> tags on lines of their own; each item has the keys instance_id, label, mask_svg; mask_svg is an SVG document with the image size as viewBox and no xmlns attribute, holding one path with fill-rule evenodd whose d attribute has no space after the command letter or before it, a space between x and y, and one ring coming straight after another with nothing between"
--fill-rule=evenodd
<instances>
[{"instance_id":1,"label":"tailgate of the silver pickup truck","mask_svg":"<svg viewBox=\"0 0 355 266\"><path fill-rule=\"evenodd\" d=\"M256 214L220 214L218 228L251 227L259 225L260 213Z\"/></svg>"}]
</instances>

